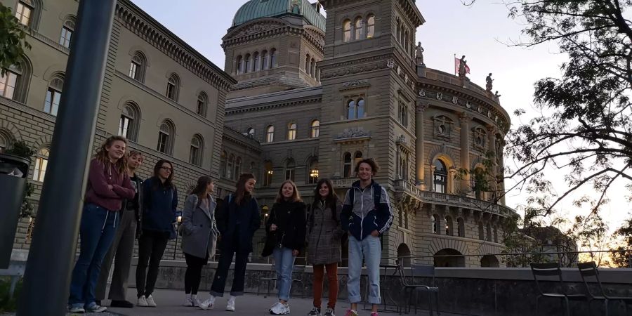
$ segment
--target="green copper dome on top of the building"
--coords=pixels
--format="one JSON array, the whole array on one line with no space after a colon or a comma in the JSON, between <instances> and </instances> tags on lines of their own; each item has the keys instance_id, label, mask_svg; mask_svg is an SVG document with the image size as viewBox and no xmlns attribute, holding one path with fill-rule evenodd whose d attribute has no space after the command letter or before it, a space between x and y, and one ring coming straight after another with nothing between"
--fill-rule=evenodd
<instances>
[{"instance_id":1,"label":"green copper dome on top of the building","mask_svg":"<svg viewBox=\"0 0 632 316\"><path fill-rule=\"evenodd\" d=\"M318 13L308 0L250 0L246 2L232 19L237 26L258 18L272 18L286 14L303 15L312 25L325 30L325 18Z\"/></svg>"}]
</instances>

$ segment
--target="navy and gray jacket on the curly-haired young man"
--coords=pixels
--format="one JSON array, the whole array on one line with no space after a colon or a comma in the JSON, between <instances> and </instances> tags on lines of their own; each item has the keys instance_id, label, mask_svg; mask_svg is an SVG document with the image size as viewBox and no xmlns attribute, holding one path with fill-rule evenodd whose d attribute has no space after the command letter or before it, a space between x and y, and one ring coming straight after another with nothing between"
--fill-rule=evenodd
<instances>
[{"instance_id":1,"label":"navy and gray jacket on the curly-haired young man","mask_svg":"<svg viewBox=\"0 0 632 316\"><path fill-rule=\"evenodd\" d=\"M378 192L380 202L375 205L374 197ZM353 205L350 195L353 195ZM360 180L355 181L345 195L340 219L343 230L350 232L357 240L371 235L374 230L382 235L393 223L388 193L374 180L364 189L360 188Z\"/></svg>"}]
</instances>

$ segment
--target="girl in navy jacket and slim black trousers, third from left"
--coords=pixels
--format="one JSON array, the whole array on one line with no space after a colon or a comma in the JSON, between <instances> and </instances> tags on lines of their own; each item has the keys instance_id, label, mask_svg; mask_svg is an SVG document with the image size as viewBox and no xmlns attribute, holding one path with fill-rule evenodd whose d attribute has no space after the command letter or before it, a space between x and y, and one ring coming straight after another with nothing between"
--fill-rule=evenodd
<instances>
[{"instance_id":1,"label":"girl in navy jacket and slim black trousers, third from left","mask_svg":"<svg viewBox=\"0 0 632 316\"><path fill-rule=\"evenodd\" d=\"M154 166L154 176L143 184L143 197L143 232L138 239L136 266L136 305L156 307L152 292L164 249L176 222L178 206L178 190L173 185L173 164L169 160L160 159Z\"/></svg>"}]
</instances>

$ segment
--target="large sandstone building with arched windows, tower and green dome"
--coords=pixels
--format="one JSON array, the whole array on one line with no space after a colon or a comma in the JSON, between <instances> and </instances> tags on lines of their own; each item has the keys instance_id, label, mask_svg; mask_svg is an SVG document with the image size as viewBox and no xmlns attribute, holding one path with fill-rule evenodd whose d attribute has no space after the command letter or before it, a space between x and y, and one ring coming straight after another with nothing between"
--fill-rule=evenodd
<instances>
[{"instance_id":1,"label":"large sandstone building with arched windows, tower and green dome","mask_svg":"<svg viewBox=\"0 0 632 316\"><path fill-rule=\"evenodd\" d=\"M62 93L77 1L0 1L16 15L32 10L34 45L15 67L16 92L0 97L0 148L25 140L38 150L31 181L40 185L55 122L47 105ZM262 219L286 178L308 201L322 177L343 196L354 163L371 157L395 216L385 261L502 265L492 254L513 211L501 181L480 192L471 175L502 174L509 117L468 78L418 64L414 30L424 22L412 0L250 0L223 37L220 70L121 0L95 143L126 135L146 154L143 176L157 159L173 160L180 191L210 174L223 197L239 173L253 172ZM16 246L27 247L20 225ZM254 260L263 232L255 238ZM166 256L179 257L171 247Z\"/></svg>"}]
</instances>

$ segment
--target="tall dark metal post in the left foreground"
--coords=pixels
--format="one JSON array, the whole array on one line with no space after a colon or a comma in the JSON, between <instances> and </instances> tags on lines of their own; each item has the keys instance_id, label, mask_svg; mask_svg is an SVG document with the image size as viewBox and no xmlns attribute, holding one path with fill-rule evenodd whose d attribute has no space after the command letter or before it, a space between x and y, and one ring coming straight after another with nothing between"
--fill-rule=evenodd
<instances>
[{"instance_id":1,"label":"tall dark metal post in the left foreground","mask_svg":"<svg viewBox=\"0 0 632 316\"><path fill-rule=\"evenodd\" d=\"M114 8L115 0L79 1L18 316L62 316L67 311Z\"/></svg>"}]
</instances>

